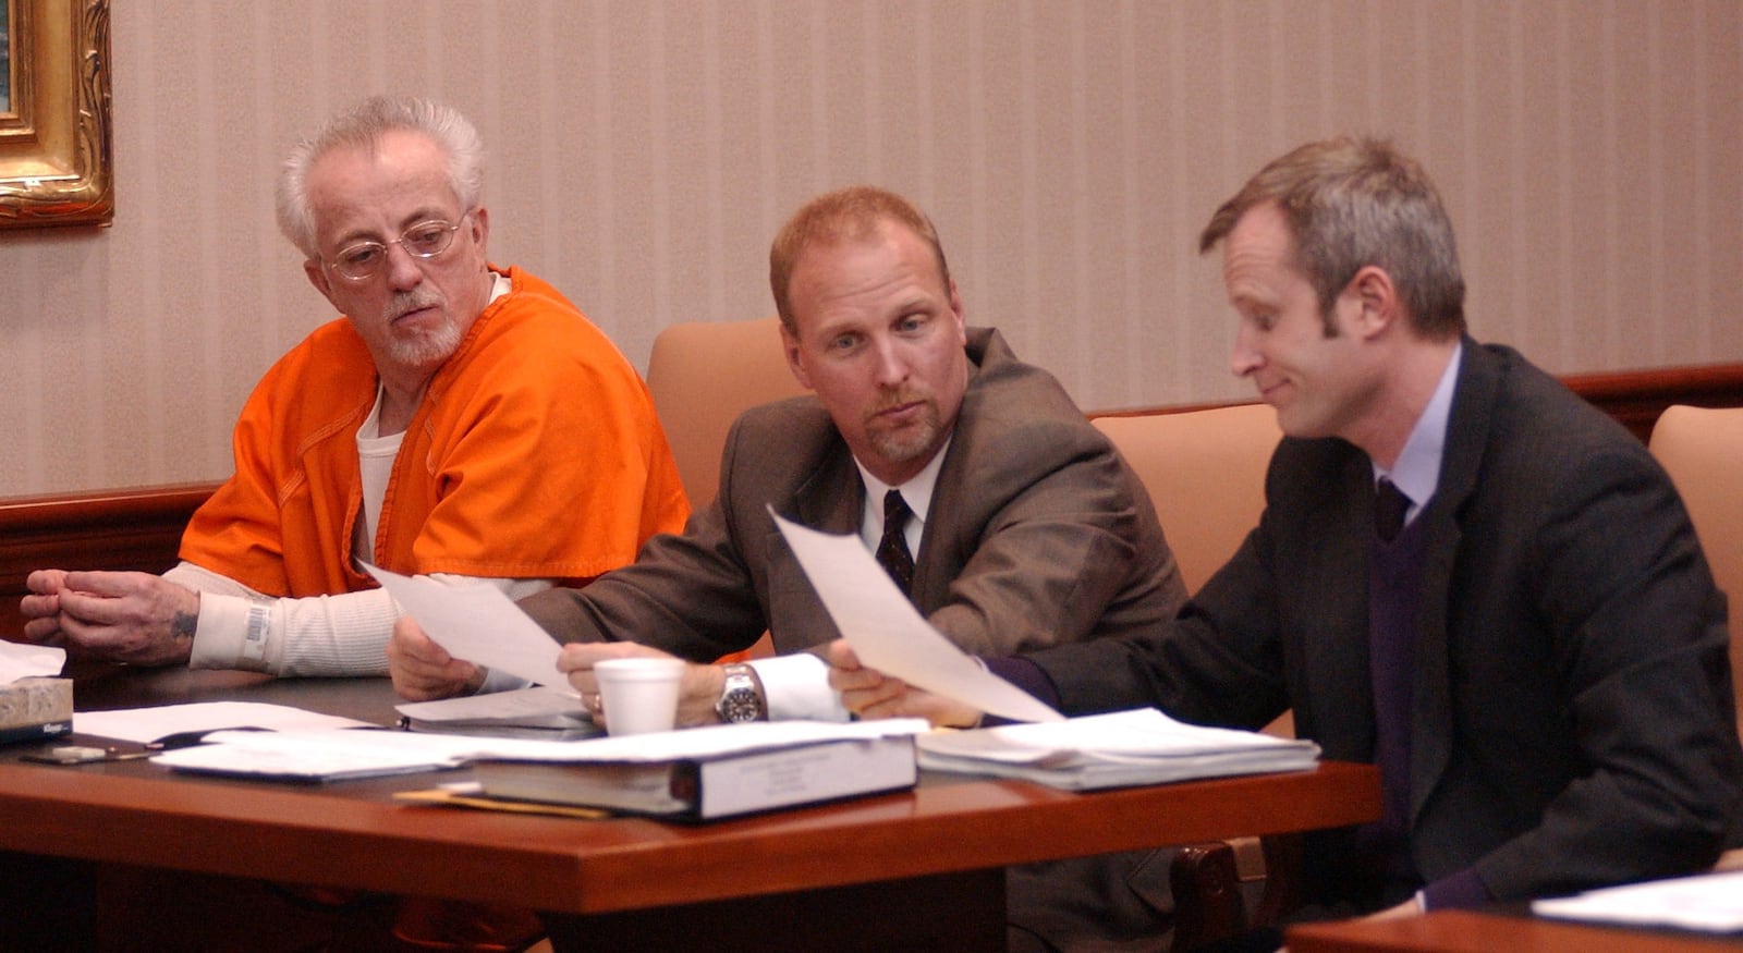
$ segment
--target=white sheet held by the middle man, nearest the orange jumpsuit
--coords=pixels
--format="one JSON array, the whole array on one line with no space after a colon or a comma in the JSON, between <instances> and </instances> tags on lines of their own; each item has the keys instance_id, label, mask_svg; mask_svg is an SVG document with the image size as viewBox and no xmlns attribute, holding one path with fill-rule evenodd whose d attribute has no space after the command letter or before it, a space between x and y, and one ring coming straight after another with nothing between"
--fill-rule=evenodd
<instances>
[{"instance_id":1,"label":"white sheet held by the middle man, nearest the orange jumpsuit","mask_svg":"<svg viewBox=\"0 0 1743 953\"><path fill-rule=\"evenodd\" d=\"M539 685L568 688L568 678L556 671L561 646L495 585L448 585L380 566L363 568L455 659Z\"/></svg>"}]
</instances>

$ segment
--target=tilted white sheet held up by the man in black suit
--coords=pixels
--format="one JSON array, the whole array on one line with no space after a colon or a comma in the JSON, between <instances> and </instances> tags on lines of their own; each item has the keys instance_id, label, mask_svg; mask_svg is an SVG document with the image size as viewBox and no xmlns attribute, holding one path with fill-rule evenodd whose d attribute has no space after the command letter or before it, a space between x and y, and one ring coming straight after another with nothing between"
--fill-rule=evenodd
<instances>
[{"instance_id":1,"label":"tilted white sheet held up by the man in black suit","mask_svg":"<svg viewBox=\"0 0 1743 953\"><path fill-rule=\"evenodd\" d=\"M769 510L830 618L859 660L908 685L1014 721L1061 721L1039 699L988 673L896 589L859 537L835 537Z\"/></svg>"}]
</instances>

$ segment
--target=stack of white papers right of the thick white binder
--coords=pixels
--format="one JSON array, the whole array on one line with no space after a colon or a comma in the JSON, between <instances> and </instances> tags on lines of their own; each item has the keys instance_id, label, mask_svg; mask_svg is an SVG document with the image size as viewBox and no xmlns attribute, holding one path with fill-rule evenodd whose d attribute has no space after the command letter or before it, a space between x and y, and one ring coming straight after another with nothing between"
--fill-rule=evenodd
<instances>
[{"instance_id":1,"label":"stack of white papers right of the thick white binder","mask_svg":"<svg viewBox=\"0 0 1743 953\"><path fill-rule=\"evenodd\" d=\"M920 737L920 767L1070 791L1312 768L1319 746L1183 725L1156 709Z\"/></svg>"}]
</instances>

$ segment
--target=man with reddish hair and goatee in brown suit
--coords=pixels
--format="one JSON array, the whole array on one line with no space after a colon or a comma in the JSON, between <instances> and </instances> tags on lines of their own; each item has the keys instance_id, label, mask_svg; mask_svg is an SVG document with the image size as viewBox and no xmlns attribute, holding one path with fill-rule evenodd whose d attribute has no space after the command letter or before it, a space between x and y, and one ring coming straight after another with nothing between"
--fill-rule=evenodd
<instances>
[{"instance_id":1,"label":"man with reddish hair and goatee in brown suit","mask_svg":"<svg viewBox=\"0 0 1743 953\"><path fill-rule=\"evenodd\" d=\"M807 652L838 629L770 505L817 530L858 533L882 559L899 495L912 516L894 549L910 563L892 575L967 652L1140 632L1173 617L1185 587L1143 484L1051 375L1018 361L997 331L967 328L919 209L875 188L812 200L776 239L770 284L788 364L816 395L734 423L720 495L683 535L655 537L634 564L586 589L521 601L572 643L561 667L589 704L596 660L668 652L695 662L680 723L847 716L828 666ZM765 629L774 659L711 664ZM413 699L485 679L410 618L389 659L396 688ZM1142 861L1016 869L1013 922L1070 944L1107 929L1068 915L1088 902L1077 890L1138 878L1143 899L1124 889L1122 913L1105 920L1122 932L1166 927L1168 864Z\"/></svg>"}]
</instances>

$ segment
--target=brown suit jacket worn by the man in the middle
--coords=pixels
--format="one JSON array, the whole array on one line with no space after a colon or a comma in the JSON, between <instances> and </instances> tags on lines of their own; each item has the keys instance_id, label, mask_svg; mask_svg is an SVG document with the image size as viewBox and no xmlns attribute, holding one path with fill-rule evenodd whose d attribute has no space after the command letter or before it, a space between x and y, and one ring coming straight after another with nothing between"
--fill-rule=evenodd
<instances>
[{"instance_id":1,"label":"brown suit jacket worn by the man in the middle","mask_svg":"<svg viewBox=\"0 0 1743 953\"><path fill-rule=\"evenodd\" d=\"M1136 474L1046 371L997 331L971 329L971 378L938 474L913 601L964 650L1006 655L1159 625L1185 601ZM692 660L838 638L765 507L858 533L865 486L816 397L732 425L720 497L682 537L586 589L521 606L561 641L633 639Z\"/></svg>"}]
</instances>

